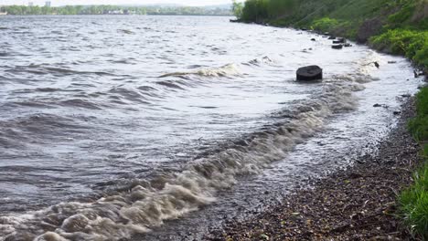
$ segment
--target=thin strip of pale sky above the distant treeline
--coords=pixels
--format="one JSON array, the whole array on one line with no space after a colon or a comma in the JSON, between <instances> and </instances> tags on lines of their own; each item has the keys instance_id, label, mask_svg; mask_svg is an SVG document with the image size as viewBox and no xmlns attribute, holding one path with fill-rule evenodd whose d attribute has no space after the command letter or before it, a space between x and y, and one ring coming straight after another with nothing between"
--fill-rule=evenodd
<instances>
[{"instance_id":1,"label":"thin strip of pale sky above the distant treeline","mask_svg":"<svg viewBox=\"0 0 428 241\"><path fill-rule=\"evenodd\" d=\"M47 0L0 0L0 5L44 5ZM152 4L178 4L178 5L224 5L231 0L50 0L52 5L152 5Z\"/></svg>"}]
</instances>

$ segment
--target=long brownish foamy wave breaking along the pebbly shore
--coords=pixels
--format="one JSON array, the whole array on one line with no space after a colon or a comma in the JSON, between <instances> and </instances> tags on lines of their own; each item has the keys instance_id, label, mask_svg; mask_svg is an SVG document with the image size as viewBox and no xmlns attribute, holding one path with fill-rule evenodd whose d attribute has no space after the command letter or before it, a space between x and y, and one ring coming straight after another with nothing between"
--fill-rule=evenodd
<instances>
[{"instance_id":1,"label":"long brownish foamy wave breaking along the pebbly shore","mask_svg":"<svg viewBox=\"0 0 428 241\"><path fill-rule=\"evenodd\" d=\"M188 162L178 173L158 173L149 181L130 181L123 189L91 203L62 203L26 215L0 217L0 240L122 240L146 233L216 201L216 194L241 175L260 173L294 146L323 130L328 117L355 110L353 91L362 89L351 75L326 79L321 92L275 113L279 120L218 152Z\"/></svg>"}]
</instances>

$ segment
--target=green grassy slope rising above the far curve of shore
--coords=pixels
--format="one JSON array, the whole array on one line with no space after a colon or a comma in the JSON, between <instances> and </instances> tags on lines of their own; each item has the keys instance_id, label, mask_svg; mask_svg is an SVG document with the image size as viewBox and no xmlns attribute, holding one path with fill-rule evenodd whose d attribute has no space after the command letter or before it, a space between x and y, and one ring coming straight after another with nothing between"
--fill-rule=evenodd
<instances>
[{"instance_id":1,"label":"green grassy slope rising above the far curve of shore","mask_svg":"<svg viewBox=\"0 0 428 241\"><path fill-rule=\"evenodd\" d=\"M420 73L428 68L425 0L247 0L234 4L241 22L313 29L405 56ZM425 70L423 70L425 69ZM419 74L419 73L418 73Z\"/></svg>"}]
</instances>

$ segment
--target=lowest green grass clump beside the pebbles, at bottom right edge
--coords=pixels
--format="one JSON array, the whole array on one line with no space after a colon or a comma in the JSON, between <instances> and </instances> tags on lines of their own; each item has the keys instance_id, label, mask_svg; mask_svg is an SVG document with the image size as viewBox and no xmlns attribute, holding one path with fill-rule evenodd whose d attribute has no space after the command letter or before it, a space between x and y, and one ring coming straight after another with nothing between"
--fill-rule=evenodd
<instances>
[{"instance_id":1,"label":"lowest green grass clump beside the pebbles, at bottom right edge","mask_svg":"<svg viewBox=\"0 0 428 241\"><path fill-rule=\"evenodd\" d=\"M400 211L414 236L428 238L428 162L413 174L414 184L401 192Z\"/></svg>"}]
</instances>

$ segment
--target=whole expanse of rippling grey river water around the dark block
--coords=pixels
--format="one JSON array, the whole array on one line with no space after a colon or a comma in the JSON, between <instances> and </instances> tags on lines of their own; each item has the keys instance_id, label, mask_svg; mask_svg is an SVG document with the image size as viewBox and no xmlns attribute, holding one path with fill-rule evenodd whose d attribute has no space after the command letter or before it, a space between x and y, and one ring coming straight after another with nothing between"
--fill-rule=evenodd
<instances>
[{"instance_id":1,"label":"whole expanse of rippling grey river water around the dark block","mask_svg":"<svg viewBox=\"0 0 428 241\"><path fill-rule=\"evenodd\" d=\"M203 233L375 152L421 79L312 37L227 17L1 17L0 240ZM325 81L296 83L313 64Z\"/></svg>"}]
</instances>

